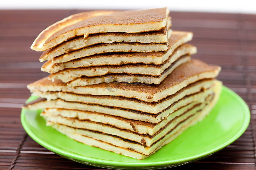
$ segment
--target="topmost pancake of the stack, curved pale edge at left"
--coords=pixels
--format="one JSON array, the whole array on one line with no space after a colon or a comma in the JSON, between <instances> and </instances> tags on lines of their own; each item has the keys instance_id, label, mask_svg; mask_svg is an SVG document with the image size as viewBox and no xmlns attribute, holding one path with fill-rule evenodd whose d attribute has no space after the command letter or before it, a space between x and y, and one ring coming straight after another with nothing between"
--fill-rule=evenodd
<instances>
[{"instance_id":1,"label":"topmost pancake of the stack, curved pale edge at left","mask_svg":"<svg viewBox=\"0 0 256 170\"><path fill-rule=\"evenodd\" d=\"M70 16L42 31L31 49L44 51L76 36L104 32L138 33L166 27L167 8L133 11L91 11Z\"/></svg>"}]
</instances>

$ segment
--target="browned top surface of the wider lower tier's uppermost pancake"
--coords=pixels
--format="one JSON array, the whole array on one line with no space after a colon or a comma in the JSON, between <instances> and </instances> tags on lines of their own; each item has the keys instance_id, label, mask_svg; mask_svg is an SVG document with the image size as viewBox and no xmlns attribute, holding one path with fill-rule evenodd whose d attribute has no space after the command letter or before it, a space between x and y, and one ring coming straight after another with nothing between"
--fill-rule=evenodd
<instances>
[{"instance_id":1,"label":"browned top surface of the wider lower tier's uppermost pancake","mask_svg":"<svg viewBox=\"0 0 256 170\"><path fill-rule=\"evenodd\" d=\"M161 82L159 85L145 85L145 86L134 86L126 82L111 82L111 83L100 83L95 85L86 85L86 86L77 86L75 88L119 88L121 90L131 90L136 91L138 93L149 93L149 94L156 94L162 90L165 90L167 88L171 88L174 85L178 85L182 81L196 76L198 74L204 73L204 72L215 72L217 75L217 72L220 71L219 66L214 65L207 65L205 62L192 59L191 61L188 61L181 66L174 69L174 71L169 74L163 82ZM45 86L45 85L60 85L60 86L66 86L66 83L63 83L61 80L55 79L54 82L51 82L48 80L48 77L45 77L41 80L38 80L30 86Z\"/></svg>"}]
</instances>

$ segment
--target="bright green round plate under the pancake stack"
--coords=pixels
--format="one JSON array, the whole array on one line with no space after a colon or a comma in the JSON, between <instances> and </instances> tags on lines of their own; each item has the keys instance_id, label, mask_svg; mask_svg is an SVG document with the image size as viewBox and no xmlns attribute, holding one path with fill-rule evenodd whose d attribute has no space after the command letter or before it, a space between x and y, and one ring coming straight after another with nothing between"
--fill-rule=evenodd
<instances>
[{"instance_id":1,"label":"bright green round plate under the pancake stack","mask_svg":"<svg viewBox=\"0 0 256 170\"><path fill-rule=\"evenodd\" d=\"M27 102L34 100L31 96ZM250 112L243 99L227 87L216 107L202 122L144 160L87 146L46 126L40 110L21 111L21 123L36 142L64 158L112 169L161 169L205 158L238 139L248 127Z\"/></svg>"}]
</instances>

